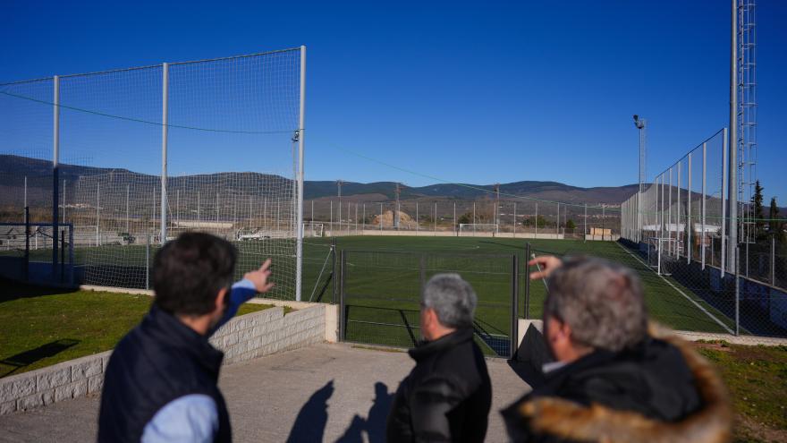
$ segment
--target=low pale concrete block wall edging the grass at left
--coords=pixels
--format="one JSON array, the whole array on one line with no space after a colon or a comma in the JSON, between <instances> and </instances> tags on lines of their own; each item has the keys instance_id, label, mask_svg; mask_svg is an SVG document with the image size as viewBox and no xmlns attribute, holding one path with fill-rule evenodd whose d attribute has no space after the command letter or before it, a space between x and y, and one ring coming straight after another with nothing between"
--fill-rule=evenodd
<instances>
[{"instance_id":1,"label":"low pale concrete block wall edging the grass at left","mask_svg":"<svg viewBox=\"0 0 787 443\"><path fill-rule=\"evenodd\" d=\"M282 307L252 312L230 320L210 343L224 351L224 364L321 343L331 336L326 319L335 318L334 311L335 306L313 303L287 315ZM99 394L111 354L106 351L0 379L0 415Z\"/></svg>"}]
</instances>

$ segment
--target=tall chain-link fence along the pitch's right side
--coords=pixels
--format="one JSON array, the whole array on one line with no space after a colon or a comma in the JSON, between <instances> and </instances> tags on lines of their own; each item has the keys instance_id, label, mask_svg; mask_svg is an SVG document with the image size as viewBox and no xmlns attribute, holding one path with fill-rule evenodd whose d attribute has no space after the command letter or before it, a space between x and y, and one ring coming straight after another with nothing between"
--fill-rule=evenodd
<instances>
[{"instance_id":1,"label":"tall chain-link fence along the pitch's right side","mask_svg":"<svg viewBox=\"0 0 787 443\"><path fill-rule=\"evenodd\" d=\"M787 337L783 228L769 220L749 241L731 236L726 136L715 133L624 201L622 238L727 332Z\"/></svg>"}]
</instances>

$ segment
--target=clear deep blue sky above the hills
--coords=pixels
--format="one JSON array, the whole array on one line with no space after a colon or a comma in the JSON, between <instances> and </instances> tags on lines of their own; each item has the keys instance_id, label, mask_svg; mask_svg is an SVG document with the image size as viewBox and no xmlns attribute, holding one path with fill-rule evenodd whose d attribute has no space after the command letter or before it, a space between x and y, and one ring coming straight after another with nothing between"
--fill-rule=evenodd
<instances>
[{"instance_id":1,"label":"clear deep blue sky above the hills","mask_svg":"<svg viewBox=\"0 0 787 443\"><path fill-rule=\"evenodd\" d=\"M309 180L435 182L351 151L452 182L614 186L637 181L632 114L649 177L727 125L728 3L12 0L0 81L302 44ZM787 3L757 3L759 177L783 203Z\"/></svg>"}]
</instances>

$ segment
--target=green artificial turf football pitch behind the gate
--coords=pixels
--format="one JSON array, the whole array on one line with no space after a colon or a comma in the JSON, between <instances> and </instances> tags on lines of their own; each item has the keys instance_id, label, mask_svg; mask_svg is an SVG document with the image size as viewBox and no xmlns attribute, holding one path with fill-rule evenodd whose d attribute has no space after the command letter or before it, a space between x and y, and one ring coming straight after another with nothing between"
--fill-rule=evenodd
<instances>
[{"instance_id":1,"label":"green artificial turf football pitch behind the gate","mask_svg":"<svg viewBox=\"0 0 787 443\"><path fill-rule=\"evenodd\" d=\"M265 246L259 242L266 243ZM239 242L241 267L265 260L262 251L284 250L266 239ZM333 266L329 257L332 239L306 238L303 246L302 298L339 302L334 297ZM478 294L476 328L489 354L501 354L507 347L511 325L512 256L519 261L519 317L539 319L546 295L543 282L529 282L526 299L526 242L537 255L590 255L622 263L634 269L645 289L652 319L675 329L702 332L729 332L732 320L671 277L660 277L638 257L614 242L581 240L523 240L495 237L440 236L347 236L336 238L337 252L345 251L343 291L345 338L377 345L410 346L419 338L419 290L423 281L439 272L456 272L473 285ZM151 251L154 254L156 249ZM31 260L46 260L47 250L31 251ZM40 256L40 257L39 257ZM337 261L340 261L337 253ZM134 268L144 276L145 247L102 246L77 248L75 262L106 267L112 277L124 268ZM274 268L294 268L291 256L274 256ZM152 266L152 260L151 260ZM337 264L337 271L341 266ZM325 268L324 268L325 266ZM239 269L238 274L248 269ZM322 270L322 273L321 273ZM338 277L338 276L336 276ZM337 282L340 280L336 278ZM144 280L142 280L144 281ZM144 285L144 284L143 284ZM292 284L280 285L275 297L292 298ZM529 301L529 303L527 303ZM526 305L527 303L527 305Z\"/></svg>"}]
</instances>

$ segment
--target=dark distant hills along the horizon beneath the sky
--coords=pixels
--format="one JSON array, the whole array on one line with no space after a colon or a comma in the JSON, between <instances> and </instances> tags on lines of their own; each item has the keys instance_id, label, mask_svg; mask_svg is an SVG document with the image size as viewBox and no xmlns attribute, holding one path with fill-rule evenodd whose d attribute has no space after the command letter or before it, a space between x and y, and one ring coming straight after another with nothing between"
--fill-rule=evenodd
<instances>
[{"instance_id":1,"label":"dark distant hills along the horizon beneath the sky","mask_svg":"<svg viewBox=\"0 0 787 443\"><path fill-rule=\"evenodd\" d=\"M37 195L45 196L47 189L51 189L51 162L49 160L26 158L13 155L0 155L0 204L8 204L19 200L21 187L23 186L24 176L28 176L28 195L29 198L36 199ZM80 176L102 175L114 173L120 180L134 180L139 183L144 181L155 186L157 176L134 173L127 169L76 166L62 164L60 167L60 177L68 183L76 183ZM230 173L216 173L212 175L200 175L221 179L223 175ZM282 177L275 175L264 175L258 173L242 173L242 183L267 183L272 180L282 180ZM173 177L173 184L180 180L194 178L192 176ZM140 180L141 179L141 180ZM334 181L306 181L304 183L304 200L327 200L337 194L337 187ZM374 183L355 183L344 182L342 186L342 197L348 200L393 200L395 183L393 182L374 182ZM410 187L402 186L402 200L476 200L492 195L494 184L470 184L470 183L437 183L427 186ZM242 194L242 189L235 192ZM637 184L628 184L616 187L593 187L581 188L557 182L535 182L522 181L515 183L500 184L501 199L515 195L519 197L530 197L541 200L564 201L574 203L606 203L620 204L633 193L637 192ZM15 204L15 203L14 203Z\"/></svg>"}]
</instances>

